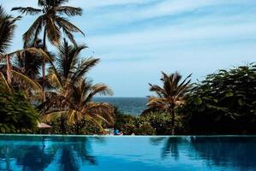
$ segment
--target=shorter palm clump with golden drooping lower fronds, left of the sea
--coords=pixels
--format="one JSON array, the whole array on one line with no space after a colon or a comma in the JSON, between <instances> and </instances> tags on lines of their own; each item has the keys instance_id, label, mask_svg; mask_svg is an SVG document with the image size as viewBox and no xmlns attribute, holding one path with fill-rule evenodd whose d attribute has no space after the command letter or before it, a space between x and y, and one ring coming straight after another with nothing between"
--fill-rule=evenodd
<instances>
[{"instance_id":1,"label":"shorter palm clump with golden drooping lower fronds, left of the sea","mask_svg":"<svg viewBox=\"0 0 256 171\"><path fill-rule=\"evenodd\" d=\"M68 45L66 40L63 41L57 55L57 63L49 70L48 80L52 90L47 91L47 100L41 105L41 109L45 108L43 113L46 120L61 117L63 125L65 117L68 117L68 123L76 126L77 133L82 120L93 121L101 127L98 119L112 123L114 114L110 104L92 102L95 95L111 95L112 91L107 85L92 85L92 82L87 80L87 72L99 59L80 59L80 51L85 48L84 45Z\"/></svg>"}]
</instances>

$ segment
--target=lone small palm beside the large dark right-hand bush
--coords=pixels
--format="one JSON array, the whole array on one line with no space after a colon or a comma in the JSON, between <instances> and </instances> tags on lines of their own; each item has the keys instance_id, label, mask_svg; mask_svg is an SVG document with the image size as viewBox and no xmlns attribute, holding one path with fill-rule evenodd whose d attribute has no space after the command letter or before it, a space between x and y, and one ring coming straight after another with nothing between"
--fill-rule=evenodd
<instances>
[{"instance_id":1,"label":"lone small palm beside the large dark right-hand bush","mask_svg":"<svg viewBox=\"0 0 256 171\"><path fill-rule=\"evenodd\" d=\"M191 74L182 81L182 75L179 73L175 74L165 74L162 72L163 77L161 81L163 82L163 87L158 85L150 85L150 91L157 94L157 97L148 97L148 103L146 104L148 109L143 113L146 114L149 111L161 110L168 112L171 115L171 127L172 134L175 134L175 109L176 106L182 105L184 103L184 97L188 92L188 87ZM182 82L181 82L182 81Z\"/></svg>"}]
</instances>

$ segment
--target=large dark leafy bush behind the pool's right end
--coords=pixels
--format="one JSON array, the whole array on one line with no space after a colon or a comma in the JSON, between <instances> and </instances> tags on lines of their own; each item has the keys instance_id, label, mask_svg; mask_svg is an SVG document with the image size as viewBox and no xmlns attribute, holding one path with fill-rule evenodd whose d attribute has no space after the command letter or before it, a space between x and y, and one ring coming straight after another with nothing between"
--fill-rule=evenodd
<instances>
[{"instance_id":1,"label":"large dark leafy bush behind the pool's right end","mask_svg":"<svg viewBox=\"0 0 256 171\"><path fill-rule=\"evenodd\" d=\"M219 70L193 86L188 133L256 133L256 65Z\"/></svg>"}]
</instances>

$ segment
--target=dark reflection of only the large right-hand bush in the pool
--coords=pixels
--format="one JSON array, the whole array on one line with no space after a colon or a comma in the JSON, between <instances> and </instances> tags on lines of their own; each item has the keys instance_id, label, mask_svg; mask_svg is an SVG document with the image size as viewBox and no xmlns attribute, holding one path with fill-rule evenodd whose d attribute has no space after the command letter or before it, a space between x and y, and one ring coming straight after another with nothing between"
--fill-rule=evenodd
<instances>
[{"instance_id":1,"label":"dark reflection of only the large right-hand bush in the pool","mask_svg":"<svg viewBox=\"0 0 256 171\"><path fill-rule=\"evenodd\" d=\"M255 169L256 138L192 137L191 145L208 165L232 166L237 170Z\"/></svg>"}]
</instances>

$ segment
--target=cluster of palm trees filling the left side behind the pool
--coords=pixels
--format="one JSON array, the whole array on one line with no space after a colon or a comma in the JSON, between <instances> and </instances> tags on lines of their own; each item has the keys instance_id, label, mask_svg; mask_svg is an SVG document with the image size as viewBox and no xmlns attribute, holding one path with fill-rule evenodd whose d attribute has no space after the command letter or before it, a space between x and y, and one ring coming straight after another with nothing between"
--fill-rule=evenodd
<instances>
[{"instance_id":1,"label":"cluster of palm trees filling the left side behind the pool","mask_svg":"<svg viewBox=\"0 0 256 171\"><path fill-rule=\"evenodd\" d=\"M68 1L39 0L40 9L13 8L12 10L21 14L39 17L23 35L24 49L11 53L8 53L8 50L14 36L15 22L21 20L21 16L7 15L0 7L0 76L3 87L1 95L6 92L7 95L11 93L10 97L14 97L14 102L11 99L5 102L6 96L1 98L3 111L9 111L7 114L10 116L15 115L11 119L14 118L15 124L20 124L19 127L24 127L27 133L31 133L28 131L29 127L36 133L34 126L37 126L39 121L60 122L56 125L60 127L57 133L70 133L66 127L72 127L72 133L84 133L84 127L92 127L92 124L99 128L99 133L104 133L102 126L114 122L114 109L108 103L94 103L92 98L98 95L112 95L113 92L107 85L92 84L92 80L87 78L87 72L98 64L99 59L80 56L80 51L86 49L86 46L76 44L72 33L84 33L63 15L81 15L82 10L66 6L64 3ZM43 38L40 39L42 30ZM61 44L64 35L70 43L63 39ZM46 38L56 46L57 53L47 49ZM31 113L33 124L27 123L25 127L23 121L27 121L26 115L22 118L22 112L18 115L12 110L20 107L19 104L16 108L12 106L18 99L24 104L26 115ZM5 103L9 103L10 107ZM6 116L3 121L9 121L9 117ZM17 132L20 133L18 128ZM1 130L3 133L13 133L13 129L9 130L6 125L1 127Z\"/></svg>"}]
</instances>

